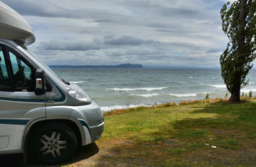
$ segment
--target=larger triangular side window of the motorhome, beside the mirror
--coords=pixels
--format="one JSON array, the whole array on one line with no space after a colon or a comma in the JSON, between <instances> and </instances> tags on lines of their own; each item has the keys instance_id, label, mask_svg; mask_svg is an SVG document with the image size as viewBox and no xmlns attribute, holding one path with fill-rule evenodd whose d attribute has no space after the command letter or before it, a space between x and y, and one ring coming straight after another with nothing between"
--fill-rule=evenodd
<instances>
[{"instance_id":1,"label":"larger triangular side window of the motorhome, beside the mirror","mask_svg":"<svg viewBox=\"0 0 256 167\"><path fill-rule=\"evenodd\" d=\"M35 69L22 59L16 52L6 48L11 62L11 76L13 76L15 91L34 91Z\"/></svg>"}]
</instances>

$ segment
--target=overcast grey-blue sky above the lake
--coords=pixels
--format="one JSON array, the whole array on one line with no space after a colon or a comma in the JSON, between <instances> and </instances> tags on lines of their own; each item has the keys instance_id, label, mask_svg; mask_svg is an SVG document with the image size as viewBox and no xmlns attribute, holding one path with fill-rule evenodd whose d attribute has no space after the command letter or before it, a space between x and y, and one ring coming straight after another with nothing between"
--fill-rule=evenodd
<instances>
[{"instance_id":1,"label":"overcast grey-blue sky above the lake","mask_svg":"<svg viewBox=\"0 0 256 167\"><path fill-rule=\"evenodd\" d=\"M220 67L226 0L4 0L34 30L48 65Z\"/></svg>"}]
</instances>

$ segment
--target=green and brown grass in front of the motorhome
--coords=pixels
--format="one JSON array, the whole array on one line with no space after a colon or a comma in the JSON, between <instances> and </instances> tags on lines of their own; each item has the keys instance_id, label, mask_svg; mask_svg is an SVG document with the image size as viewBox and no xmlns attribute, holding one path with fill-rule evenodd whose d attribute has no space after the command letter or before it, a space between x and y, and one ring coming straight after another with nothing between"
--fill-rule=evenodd
<instances>
[{"instance_id":1,"label":"green and brown grass in front of the motorhome","mask_svg":"<svg viewBox=\"0 0 256 167\"><path fill-rule=\"evenodd\" d=\"M256 166L256 100L225 100L105 113L95 166Z\"/></svg>"}]
</instances>

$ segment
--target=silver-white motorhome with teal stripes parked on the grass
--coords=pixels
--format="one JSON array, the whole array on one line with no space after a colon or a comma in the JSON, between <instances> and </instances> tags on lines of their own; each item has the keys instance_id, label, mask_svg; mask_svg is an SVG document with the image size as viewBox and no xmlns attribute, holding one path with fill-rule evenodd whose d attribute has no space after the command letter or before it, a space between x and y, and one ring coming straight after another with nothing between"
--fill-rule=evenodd
<instances>
[{"instance_id":1,"label":"silver-white motorhome with teal stripes parked on the grass","mask_svg":"<svg viewBox=\"0 0 256 167\"><path fill-rule=\"evenodd\" d=\"M0 154L62 163L100 138L104 120L82 88L28 52L35 39L27 21L0 1Z\"/></svg>"}]
</instances>

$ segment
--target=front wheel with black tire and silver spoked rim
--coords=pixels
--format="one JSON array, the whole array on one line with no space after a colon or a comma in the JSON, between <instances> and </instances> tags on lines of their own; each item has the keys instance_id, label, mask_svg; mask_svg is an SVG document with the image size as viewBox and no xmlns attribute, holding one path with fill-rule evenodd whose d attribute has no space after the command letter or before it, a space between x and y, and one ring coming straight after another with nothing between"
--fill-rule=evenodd
<instances>
[{"instance_id":1,"label":"front wheel with black tire and silver spoked rim","mask_svg":"<svg viewBox=\"0 0 256 167\"><path fill-rule=\"evenodd\" d=\"M31 153L41 163L63 163L73 158L78 146L75 132L63 123L50 123L34 129Z\"/></svg>"}]
</instances>

